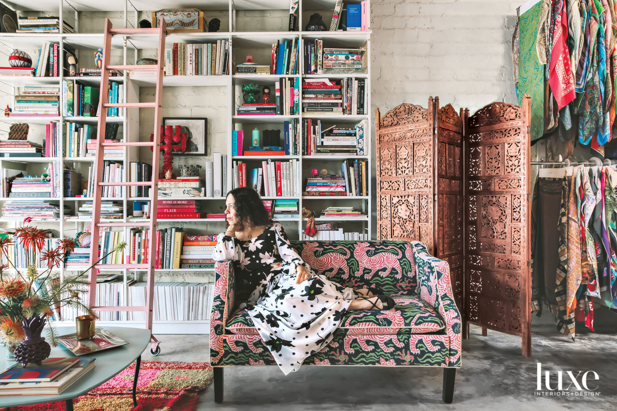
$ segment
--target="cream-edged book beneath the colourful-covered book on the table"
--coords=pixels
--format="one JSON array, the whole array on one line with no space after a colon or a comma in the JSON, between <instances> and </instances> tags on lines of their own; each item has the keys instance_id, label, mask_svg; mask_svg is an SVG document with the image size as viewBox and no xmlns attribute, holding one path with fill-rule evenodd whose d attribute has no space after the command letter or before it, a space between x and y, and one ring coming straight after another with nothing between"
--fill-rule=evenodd
<instances>
[{"instance_id":1,"label":"cream-edged book beneath the colourful-covered book on the table","mask_svg":"<svg viewBox=\"0 0 617 411\"><path fill-rule=\"evenodd\" d=\"M58 395L70 387L81 376L94 368L94 358L71 357L76 360L75 365L67 368L53 381L36 381L27 383L0 383L0 396L43 396Z\"/></svg>"}]
</instances>

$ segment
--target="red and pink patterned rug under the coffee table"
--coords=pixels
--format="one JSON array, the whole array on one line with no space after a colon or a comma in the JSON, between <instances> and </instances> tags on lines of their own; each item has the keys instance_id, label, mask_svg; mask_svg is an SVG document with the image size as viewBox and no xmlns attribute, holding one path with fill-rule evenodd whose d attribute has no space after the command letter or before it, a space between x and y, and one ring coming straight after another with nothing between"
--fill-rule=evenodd
<instances>
[{"instance_id":1,"label":"red and pink patterned rug under the coffee table","mask_svg":"<svg viewBox=\"0 0 617 411\"><path fill-rule=\"evenodd\" d=\"M135 408L131 394L133 376L135 363L73 400L75 411L194 411L199 402L199 391L212 381L212 367L207 362L142 362ZM65 402L10 407L10 411L65 411Z\"/></svg>"}]
</instances>

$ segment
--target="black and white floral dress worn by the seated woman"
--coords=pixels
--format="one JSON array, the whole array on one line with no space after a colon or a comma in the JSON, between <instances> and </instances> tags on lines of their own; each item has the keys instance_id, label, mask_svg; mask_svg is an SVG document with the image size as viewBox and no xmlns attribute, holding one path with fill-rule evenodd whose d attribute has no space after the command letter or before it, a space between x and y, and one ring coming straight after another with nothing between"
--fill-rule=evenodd
<instances>
[{"instance_id":1,"label":"black and white floral dress worn by the seated woman","mask_svg":"<svg viewBox=\"0 0 617 411\"><path fill-rule=\"evenodd\" d=\"M239 268L236 297L246 301L257 331L285 375L328 344L358 296L352 288L315 275L291 247L280 223L267 226L249 241L221 233L213 259L234 260ZM296 284L298 265L312 274L300 284Z\"/></svg>"}]
</instances>

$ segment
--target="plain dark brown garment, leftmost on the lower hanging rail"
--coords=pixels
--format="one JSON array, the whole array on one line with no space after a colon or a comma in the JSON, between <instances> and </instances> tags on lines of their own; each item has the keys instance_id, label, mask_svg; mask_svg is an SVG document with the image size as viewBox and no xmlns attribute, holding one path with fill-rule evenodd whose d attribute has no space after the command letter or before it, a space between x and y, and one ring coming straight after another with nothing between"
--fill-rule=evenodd
<instances>
[{"instance_id":1,"label":"plain dark brown garment, leftmost on the lower hanging rail","mask_svg":"<svg viewBox=\"0 0 617 411\"><path fill-rule=\"evenodd\" d=\"M539 316L542 304L557 305L555 273L559 255L559 215L563 178L537 178L531 204L531 311Z\"/></svg>"}]
</instances>

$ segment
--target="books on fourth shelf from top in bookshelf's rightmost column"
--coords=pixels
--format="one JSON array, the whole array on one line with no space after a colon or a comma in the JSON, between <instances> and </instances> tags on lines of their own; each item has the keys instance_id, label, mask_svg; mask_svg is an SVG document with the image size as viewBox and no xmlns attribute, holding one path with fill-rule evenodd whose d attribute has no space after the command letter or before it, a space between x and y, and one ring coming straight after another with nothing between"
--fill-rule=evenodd
<instances>
[{"instance_id":1,"label":"books on fourth shelf from top in bookshelf's rightmost column","mask_svg":"<svg viewBox=\"0 0 617 411\"><path fill-rule=\"evenodd\" d=\"M362 120L362 122L352 128L334 126L326 130L322 130L321 120L305 118L302 122L304 142L302 155L334 154L338 156L365 156L366 143L364 136L365 130L368 128L368 120Z\"/></svg>"}]
</instances>

